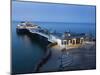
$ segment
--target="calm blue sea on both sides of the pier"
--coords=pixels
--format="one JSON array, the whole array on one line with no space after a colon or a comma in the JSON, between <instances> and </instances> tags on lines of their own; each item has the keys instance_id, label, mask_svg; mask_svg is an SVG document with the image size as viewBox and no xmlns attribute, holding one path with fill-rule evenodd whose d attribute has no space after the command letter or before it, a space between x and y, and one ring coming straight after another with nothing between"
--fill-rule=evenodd
<instances>
[{"instance_id":1,"label":"calm blue sea on both sides of the pier","mask_svg":"<svg viewBox=\"0 0 100 75\"><path fill-rule=\"evenodd\" d=\"M28 35L18 35L16 26L19 22L12 22L12 70L15 73L29 73L34 65L42 58L44 48ZM54 23L34 22L43 28L56 32L92 33L95 36L95 24L90 23Z\"/></svg>"}]
</instances>

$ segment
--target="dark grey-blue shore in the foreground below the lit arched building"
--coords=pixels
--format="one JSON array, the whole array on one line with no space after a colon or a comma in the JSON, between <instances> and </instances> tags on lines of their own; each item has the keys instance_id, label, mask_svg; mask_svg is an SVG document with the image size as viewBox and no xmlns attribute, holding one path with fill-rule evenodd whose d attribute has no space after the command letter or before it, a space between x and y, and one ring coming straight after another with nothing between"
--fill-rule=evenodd
<instances>
[{"instance_id":1,"label":"dark grey-blue shore in the foreground below the lit arched building","mask_svg":"<svg viewBox=\"0 0 100 75\"><path fill-rule=\"evenodd\" d=\"M72 48L66 50L65 67L60 67L61 48L53 46L50 59L40 68L39 72L53 71L69 71L69 70L85 70L95 69L96 66L96 50L94 44L84 44L80 48Z\"/></svg>"}]
</instances>

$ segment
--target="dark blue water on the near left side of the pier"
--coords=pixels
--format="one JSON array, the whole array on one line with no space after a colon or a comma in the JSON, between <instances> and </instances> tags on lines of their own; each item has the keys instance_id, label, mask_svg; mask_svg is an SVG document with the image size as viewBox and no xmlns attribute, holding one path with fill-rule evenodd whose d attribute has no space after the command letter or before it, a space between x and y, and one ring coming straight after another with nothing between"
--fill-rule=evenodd
<instances>
[{"instance_id":1,"label":"dark blue water on the near left side of the pier","mask_svg":"<svg viewBox=\"0 0 100 75\"><path fill-rule=\"evenodd\" d=\"M34 65L44 55L44 48L28 35L18 35L12 23L12 70L15 73L32 72Z\"/></svg>"}]
</instances>

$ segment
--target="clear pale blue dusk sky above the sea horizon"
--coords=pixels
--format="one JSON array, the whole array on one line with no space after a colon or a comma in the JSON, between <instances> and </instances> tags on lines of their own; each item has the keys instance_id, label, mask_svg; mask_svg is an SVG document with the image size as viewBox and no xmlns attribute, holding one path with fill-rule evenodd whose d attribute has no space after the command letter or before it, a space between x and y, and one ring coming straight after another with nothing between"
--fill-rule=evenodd
<instances>
[{"instance_id":1,"label":"clear pale blue dusk sky above the sea horizon","mask_svg":"<svg viewBox=\"0 0 100 75\"><path fill-rule=\"evenodd\" d=\"M12 1L13 21L95 23L95 6Z\"/></svg>"}]
</instances>

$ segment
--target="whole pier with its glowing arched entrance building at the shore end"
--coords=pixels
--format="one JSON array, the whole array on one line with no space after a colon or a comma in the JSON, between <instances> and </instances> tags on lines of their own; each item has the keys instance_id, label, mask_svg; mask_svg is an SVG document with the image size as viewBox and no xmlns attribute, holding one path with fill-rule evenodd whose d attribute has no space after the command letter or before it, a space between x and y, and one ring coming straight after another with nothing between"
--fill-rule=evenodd
<instances>
[{"instance_id":1,"label":"whole pier with its glowing arched entrance building at the shore end","mask_svg":"<svg viewBox=\"0 0 100 75\"><path fill-rule=\"evenodd\" d=\"M21 22L17 25L18 32L28 31L31 34L37 34L47 39L51 43L57 43L58 46L64 47L73 47L76 45L81 45L84 43L85 34L73 34L70 32L65 32L64 34L51 33L47 29L43 29L36 24L30 22Z\"/></svg>"}]
</instances>

